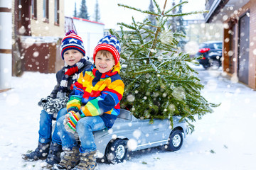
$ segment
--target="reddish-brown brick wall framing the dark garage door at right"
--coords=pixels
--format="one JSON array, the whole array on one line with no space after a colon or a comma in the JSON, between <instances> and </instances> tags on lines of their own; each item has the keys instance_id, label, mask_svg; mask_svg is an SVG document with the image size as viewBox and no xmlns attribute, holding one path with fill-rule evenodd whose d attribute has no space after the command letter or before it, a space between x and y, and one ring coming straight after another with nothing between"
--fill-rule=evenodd
<instances>
[{"instance_id":1,"label":"reddish-brown brick wall framing the dark garage door at right","mask_svg":"<svg viewBox=\"0 0 256 170\"><path fill-rule=\"evenodd\" d=\"M242 8L240 8L240 11L238 12L238 14L235 16L233 16L232 18L230 17L228 19L228 21L226 21L225 23L228 24L228 26L230 26L227 29L224 29L224 36L223 36L223 41L224 41L224 45L223 45L223 71L227 72L230 77L236 77L237 78L237 74L238 74L238 39L239 39L239 26L238 26L238 19L243 16L245 13L247 13L248 11L250 11L250 49L249 49L249 75L248 75L248 84L247 86L249 86L252 89L256 90L256 0L250 0L247 4L245 4L245 6L242 6ZM234 38L235 38L235 48L234 50L230 49L230 41L228 40L228 42L225 42L225 40L227 40L227 38L230 38L230 28L231 28L231 22L235 22L235 26L234 26ZM230 56L229 52L231 51L231 53L233 53L232 56ZM230 57L233 58L233 60L229 60ZM232 62L232 63L230 63ZM231 66L230 66L231 65ZM233 72L232 72L233 71Z\"/></svg>"}]
</instances>

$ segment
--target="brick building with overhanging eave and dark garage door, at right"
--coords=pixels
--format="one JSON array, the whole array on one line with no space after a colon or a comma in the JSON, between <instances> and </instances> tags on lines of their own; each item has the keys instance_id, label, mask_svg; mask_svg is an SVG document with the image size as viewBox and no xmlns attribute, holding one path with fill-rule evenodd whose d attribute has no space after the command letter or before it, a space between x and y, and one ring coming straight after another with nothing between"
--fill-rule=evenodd
<instances>
[{"instance_id":1,"label":"brick building with overhanging eave and dark garage door, at right","mask_svg":"<svg viewBox=\"0 0 256 170\"><path fill-rule=\"evenodd\" d=\"M207 0L206 23L223 23L223 72L256 89L256 0Z\"/></svg>"}]
</instances>

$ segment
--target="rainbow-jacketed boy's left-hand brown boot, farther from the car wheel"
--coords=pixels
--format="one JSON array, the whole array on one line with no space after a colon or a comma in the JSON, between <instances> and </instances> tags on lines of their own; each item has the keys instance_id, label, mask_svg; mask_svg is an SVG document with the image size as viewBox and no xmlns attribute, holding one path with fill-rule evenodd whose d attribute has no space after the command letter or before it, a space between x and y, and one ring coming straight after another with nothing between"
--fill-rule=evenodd
<instances>
[{"instance_id":1,"label":"rainbow-jacketed boy's left-hand brown boot, farther from the car wheel","mask_svg":"<svg viewBox=\"0 0 256 170\"><path fill-rule=\"evenodd\" d=\"M53 170L59 169L73 169L76 164L79 162L79 149L78 147L73 147L72 150L70 149L63 149L64 157L60 160L59 164L53 165Z\"/></svg>"}]
</instances>

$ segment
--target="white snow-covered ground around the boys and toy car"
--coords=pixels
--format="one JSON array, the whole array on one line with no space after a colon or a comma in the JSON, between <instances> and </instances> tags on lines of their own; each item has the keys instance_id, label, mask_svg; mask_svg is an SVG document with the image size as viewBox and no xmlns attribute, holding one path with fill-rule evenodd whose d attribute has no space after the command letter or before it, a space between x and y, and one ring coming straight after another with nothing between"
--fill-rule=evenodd
<instances>
[{"instance_id":1,"label":"white snow-covered ground around the boys and toy car","mask_svg":"<svg viewBox=\"0 0 256 170\"><path fill-rule=\"evenodd\" d=\"M134 152L122 164L102 164L100 169L256 169L256 91L230 81L221 70L195 67L203 84L203 96L221 103L214 113L197 120L178 152L159 148ZM41 97L55 85L55 74L25 72L12 77L13 89L0 94L0 169L41 169L43 161L24 162L21 154L35 149Z\"/></svg>"}]
</instances>

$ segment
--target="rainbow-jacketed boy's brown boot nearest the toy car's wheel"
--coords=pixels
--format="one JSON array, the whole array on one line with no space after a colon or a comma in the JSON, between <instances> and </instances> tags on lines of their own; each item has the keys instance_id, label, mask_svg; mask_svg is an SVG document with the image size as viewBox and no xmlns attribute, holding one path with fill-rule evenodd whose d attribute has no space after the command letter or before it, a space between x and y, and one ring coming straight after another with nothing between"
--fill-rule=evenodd
<instances>
[{"instance_id":1,"label":"rainbow-jacketed boy's brown boot nearest the toy car's wheel","mask_svg":"<svg viewBox=\"0 0 256 170\"><path fill-rule=\"evenodd\" d=\"M80 162L78 166L75 166L72 170L93 170L97 166L96 164L96 151L80 153Z\"/></svg>"}]
</instances>

